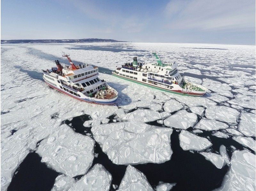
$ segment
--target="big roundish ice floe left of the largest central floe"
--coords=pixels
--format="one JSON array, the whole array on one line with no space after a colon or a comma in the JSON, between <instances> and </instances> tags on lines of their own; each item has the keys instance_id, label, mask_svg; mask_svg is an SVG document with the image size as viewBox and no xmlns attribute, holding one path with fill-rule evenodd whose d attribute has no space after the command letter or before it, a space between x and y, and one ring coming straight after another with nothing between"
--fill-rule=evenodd
<instances>
[{"instance_id":1,"label":"big roundish ice floe left of the largest central floe","mask_svg":"<svg viewBox=\"0 0 256 191\"><path fill-rule=\"evenodd\" d=\"M40 143L36 153L42 156L41 162L57 172L73 177L86 173L91 167L94 140L62 125Z\"/></svg>"}]
</instances>

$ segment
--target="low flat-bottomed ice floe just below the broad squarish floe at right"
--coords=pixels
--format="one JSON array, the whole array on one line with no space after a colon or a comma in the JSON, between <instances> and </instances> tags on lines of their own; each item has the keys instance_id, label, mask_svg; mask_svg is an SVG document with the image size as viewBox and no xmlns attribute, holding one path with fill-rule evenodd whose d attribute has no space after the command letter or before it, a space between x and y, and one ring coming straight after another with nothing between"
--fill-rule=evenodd
<instances>
[{"instance_id":1,"label":"low flat-bottomed ice floe just below the broad squarish floe at right","mask_svg":"<svg viewBox=\"0 0 256 191\"><path fill-rule=\"evenodd\" d=\"M194 128L202 129L206 131L212 131L212 130L226 129L228 128L228 125L213 119L201 119Z\"/></svg>"}]
</instances>

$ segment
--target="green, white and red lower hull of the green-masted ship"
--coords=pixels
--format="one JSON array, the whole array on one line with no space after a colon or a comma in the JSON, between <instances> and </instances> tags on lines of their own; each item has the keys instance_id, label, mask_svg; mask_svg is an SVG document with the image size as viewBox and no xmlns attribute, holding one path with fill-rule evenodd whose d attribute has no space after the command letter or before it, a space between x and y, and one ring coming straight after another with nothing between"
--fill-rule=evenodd
<instances>
[{"instance_id":1,"label":"green, white and red lower hull of the green-masted ship","mask_svg":"<svg viewBox=\"0 0 256 191\"><path fill-rule=\"evenodd\" d=\"M150 87L150 88L154 88L154 89L158 89L158 90L161 90L161 91L165 91L165 92L169 92L169 93L173 93L173 94L179 94L179 95L183 95L183 96L194 96L194 97L198 97L198 96L203 96L206 92L202 92L202 93L195 93L195 92L185 92L185 91L182 91L182 90L179 90L179 89L173 89L173 90L169 90L169 89L165 89L165 88L161 88L161 87L158 87L158 86L154 86L152 84L149 84L149 83L144 83L144 82L141 82L141 81L137 81L137 80L132 80L130 78L126 78L124 76L120 76L116 73L112 73L112 75L118 77L118 78L121 78L123 80L127 80L127 81L131 81L131 82L134 82L134 83L137 83L137 84L140 84L140 85L143 85L143 86L147 86L147 87Z\"/></svg>"}]
</instances>

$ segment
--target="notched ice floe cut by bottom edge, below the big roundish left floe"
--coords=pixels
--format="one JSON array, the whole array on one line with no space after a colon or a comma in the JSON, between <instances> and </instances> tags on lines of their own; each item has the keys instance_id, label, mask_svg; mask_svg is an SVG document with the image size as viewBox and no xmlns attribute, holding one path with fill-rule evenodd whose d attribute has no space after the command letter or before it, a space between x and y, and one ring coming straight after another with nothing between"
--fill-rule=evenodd
<instances>
[{"instance_id":1,"label":"notched ice floe cut by bottom edge, below the big roundish left floe","mask_svg":"<svg viewBox=\"0 0 256 191\"><path fill-rule=\"evenodd\" d=\"M101 164L95 164L87 174L80 180L59 175L55 179L52 191L108 191L111 185L112 176Z\"/></svg>"}]
</instances>

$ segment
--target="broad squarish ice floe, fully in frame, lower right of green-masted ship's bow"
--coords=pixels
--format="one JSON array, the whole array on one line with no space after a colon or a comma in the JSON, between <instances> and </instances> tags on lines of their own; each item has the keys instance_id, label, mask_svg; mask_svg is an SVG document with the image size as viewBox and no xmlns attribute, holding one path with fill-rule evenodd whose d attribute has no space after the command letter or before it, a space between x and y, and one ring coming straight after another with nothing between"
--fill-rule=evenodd
<instances>
[{"instance_id":1,"label":"broad squarish ice floe, fully in frame, lower right of green-masted ship's bow","mask_svg":"<svg viewBox=\"0 0 256 191\"><path fill-rule=\"evenodd\" d=\"M215 119L235 124L239 114L240 113L236 109L227 106L210 106L205 110L205 116L208 119Z\"/></svg>"}]
</instances>

